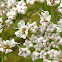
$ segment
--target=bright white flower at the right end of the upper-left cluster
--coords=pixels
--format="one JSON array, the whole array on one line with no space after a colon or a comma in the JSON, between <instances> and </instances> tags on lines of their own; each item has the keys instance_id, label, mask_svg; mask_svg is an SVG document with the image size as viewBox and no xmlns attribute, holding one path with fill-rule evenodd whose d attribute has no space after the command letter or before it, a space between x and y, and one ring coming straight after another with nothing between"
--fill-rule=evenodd
<instances>
[{"instance_id":1,"label":"bright white flower at the right end of the upper-left cluster","mask_svg":"<svg viewBox=\"0 0 62 62\"><path fill-rule=\"evenodd\" d=\"M18 9L19 14L25 14L26 13L27 6L26 6L26 3L24 2L24 0L21 0L18 2L17 9Z\"/></svg>"}]
</instances>

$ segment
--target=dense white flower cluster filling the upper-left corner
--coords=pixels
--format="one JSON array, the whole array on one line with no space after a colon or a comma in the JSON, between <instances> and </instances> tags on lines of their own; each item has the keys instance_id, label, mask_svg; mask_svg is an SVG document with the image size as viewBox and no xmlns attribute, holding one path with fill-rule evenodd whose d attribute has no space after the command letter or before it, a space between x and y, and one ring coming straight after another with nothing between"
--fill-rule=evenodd
<instances>
[{"instance_id":1,"label":"dense white flower cluster filling the upper-left corner","mask_svg":"<svg viewBox=\"0 0 62 62\"><path fill-rule=\"evenodd\" d=\"M3 8L3 14L6 14L6 16L8 17L8 19L5 22L9 24L13 24L13 20L16 19L18 13L25 14L27 11L27 6L24 0L5 0L1 1L0 5Z\"/></svg>"}]
</instances>

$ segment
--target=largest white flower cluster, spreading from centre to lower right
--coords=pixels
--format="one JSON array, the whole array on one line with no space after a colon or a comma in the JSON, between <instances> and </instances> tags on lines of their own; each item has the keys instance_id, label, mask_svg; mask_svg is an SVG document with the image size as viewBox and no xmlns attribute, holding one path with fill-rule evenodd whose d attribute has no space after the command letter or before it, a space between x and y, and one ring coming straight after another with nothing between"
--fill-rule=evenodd
<instances>
[{"instance_id":1,"label":"largest white flower cluster, spreading from centre to lower right","mask_svg":"<svg viewBox=\"0 0 62 62\"><path fill-rule=\"evenodd\" d=\"M60 36L60 30L58 30L58 28L61 29L61 23L61 20L58 21L57 24L52 23L51 15L49 15L48 11L41 12L39 26L36 22L27 23L25 25L25 22L23 20L20 20L20 22L18 23L19 30L15 32L15 35L17 37L25 39L23 45L26 48L19 48L18 55L23 57L31 55L33 61L35 61L36 59L43 59L44 62L55 62L55 60L51 61L46 59L47 55L50 56L49 59L60 59L60 53L62 52L60 51L59 45L62 45L62 38ZM28 30L33 32L31 37L28 36L28 34L30 34ZM32 54L30 53L31 48L34 48ZM57 50L54 50L55 48ZM27 54L27 52L29 53Z\"/></svg>"}]
</instances>

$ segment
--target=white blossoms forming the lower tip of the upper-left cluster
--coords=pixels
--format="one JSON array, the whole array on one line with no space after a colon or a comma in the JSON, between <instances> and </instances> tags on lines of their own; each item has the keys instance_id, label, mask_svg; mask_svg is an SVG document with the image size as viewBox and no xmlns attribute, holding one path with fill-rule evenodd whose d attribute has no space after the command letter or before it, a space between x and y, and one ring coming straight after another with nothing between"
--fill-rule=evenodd
<instances>
[{"instance_id":1,"label":"white blossoms forming the lower tip of the upper-left cluster","mask_svg":"<svg viewBox=\"0 0 62 62\"><path fill-rule=\"evenodd\" d=\"M6 15L7 15L8 19L5 22L13 24L12 20L15 20L16 16L17 16L17 8L13 7L12 9L10 9L9 12L6 13Z\"/></svg>"}]
</instances>

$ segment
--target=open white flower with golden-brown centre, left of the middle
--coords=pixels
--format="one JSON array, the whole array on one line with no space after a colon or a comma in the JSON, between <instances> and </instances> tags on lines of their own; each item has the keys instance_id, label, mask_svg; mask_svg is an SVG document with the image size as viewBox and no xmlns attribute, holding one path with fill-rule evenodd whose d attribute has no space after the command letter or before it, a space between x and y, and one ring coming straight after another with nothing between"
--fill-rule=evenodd
<instances>
[{"instance_id":1,"label":"open white flower with golden-brown centre, left of the middle","mask_svg":"<svg viewBox=\"0 0 62 62\"><path fill-rule=\"evenodd\" d=\"M25 25L25 22L23 20L21 20L19 23L18 23L18 31L15 32L15 35L17 37L20 37L20 38L23 38L23 39L26 39L27 35L28 35L28 26Z\"/></svg>"}]
</instances>

